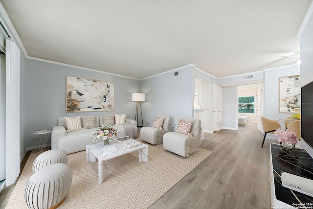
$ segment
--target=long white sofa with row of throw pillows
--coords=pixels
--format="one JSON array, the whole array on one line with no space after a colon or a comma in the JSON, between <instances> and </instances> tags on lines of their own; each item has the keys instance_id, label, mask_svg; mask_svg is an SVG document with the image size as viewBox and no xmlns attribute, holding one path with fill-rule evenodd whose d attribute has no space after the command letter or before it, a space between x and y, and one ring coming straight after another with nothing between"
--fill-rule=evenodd
<instances>
[{"instance_id":1,"label":"long white sofa with row of throw pillows","mask_svg":"<svg viewBox=\"0 0 313 209\"><path fill-rule=\"evenodd\" d=\"M108 115L105 115L108 116ZM113 115L114 116L114 115ZM69 118L76 118L69 117ZM67 122L66 117L59 117L56 126L52 127L51 130L51 149L62 149L67 152L67 154L79 152L86 150L86 145L99 143L99 141L92 141L93 135L97 130L97 127L104 124L103 116L94 116L94 126L91 128L84 128L83 117L81 118L81 129L76 131L67 132ZM93 116L91 116L93 117ZM104 124L109 125L109 124ZM137 137L137 121L132 119L125 119L125 124L121 125L113 125L115 129L117 129L117 137Z\"/></svg>"}]
</instances>

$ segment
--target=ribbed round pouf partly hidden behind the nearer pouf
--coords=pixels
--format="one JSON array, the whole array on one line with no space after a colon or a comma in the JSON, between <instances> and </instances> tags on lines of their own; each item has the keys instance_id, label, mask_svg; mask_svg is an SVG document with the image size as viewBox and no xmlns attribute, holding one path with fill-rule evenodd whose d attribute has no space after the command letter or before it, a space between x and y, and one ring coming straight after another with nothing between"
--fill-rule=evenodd
<instances>
[{"instance_id":1,"label":"ribbed round pouf partly hidden behind the nearer pouf","mask_svg":"<svg viewBox=\"0 0 313 209\"><path fill-rule=\"evenodd\" d=\"M33 172L54 163L67 164L67 153L62 149L51 149L38 155L33 163Z\"/></svg>"}]
</instances>

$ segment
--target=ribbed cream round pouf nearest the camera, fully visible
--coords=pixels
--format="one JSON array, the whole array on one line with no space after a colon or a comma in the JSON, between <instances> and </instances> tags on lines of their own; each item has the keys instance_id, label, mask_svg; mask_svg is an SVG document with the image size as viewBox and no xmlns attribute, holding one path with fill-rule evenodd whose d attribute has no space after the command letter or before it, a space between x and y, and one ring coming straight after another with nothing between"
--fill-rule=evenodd
<instances>
[{"instance_id":1,"label":"ribbed cream round pouf nearest the camera, fully visible","mask_svg":"<svg viewBox=\"0 0 313 209\"><path fill-rule=\"evenodd\" d=\"M72 184L72 170L67 164L47 165L34 173L25 188L29 209L55 209L60 206Z\"/></svg>"}]
</instances>

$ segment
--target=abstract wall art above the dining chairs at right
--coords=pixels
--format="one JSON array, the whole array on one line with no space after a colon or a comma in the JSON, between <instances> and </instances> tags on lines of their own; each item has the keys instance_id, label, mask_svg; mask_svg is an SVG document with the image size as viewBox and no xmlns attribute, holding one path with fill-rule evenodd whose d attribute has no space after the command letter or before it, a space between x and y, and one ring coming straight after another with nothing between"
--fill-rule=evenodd
<instances>
[{"instance_id":1,"label":"abstract wall art above the dining chairs at right","mask_svg":"<svg viewBox=\"0 0 313 209\"><path fill-rule=\"evenodd\" d=\"M279 112L301 112L300 75L279 77Z\"/></svg>"}]
</instances>

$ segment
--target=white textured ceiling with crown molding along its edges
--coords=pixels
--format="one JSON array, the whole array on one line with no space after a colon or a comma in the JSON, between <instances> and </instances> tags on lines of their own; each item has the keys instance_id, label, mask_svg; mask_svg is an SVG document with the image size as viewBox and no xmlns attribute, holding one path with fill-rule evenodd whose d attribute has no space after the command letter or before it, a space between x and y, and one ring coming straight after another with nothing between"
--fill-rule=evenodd
<instances>
[{"instance_id":1,"label":"white textured ceiling with crown molding along its edges","mask_svg":"<svg viewBox=\"0 0 313 209\"><path fill-rule=\"evenodd\" d=\"M0 1L28 57L138 79L191 63L216 77L294 64L281 56L299 50L312 2Z\"/></svg>"}]
</instances>

